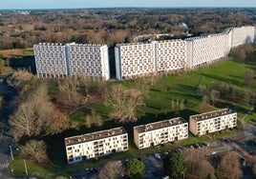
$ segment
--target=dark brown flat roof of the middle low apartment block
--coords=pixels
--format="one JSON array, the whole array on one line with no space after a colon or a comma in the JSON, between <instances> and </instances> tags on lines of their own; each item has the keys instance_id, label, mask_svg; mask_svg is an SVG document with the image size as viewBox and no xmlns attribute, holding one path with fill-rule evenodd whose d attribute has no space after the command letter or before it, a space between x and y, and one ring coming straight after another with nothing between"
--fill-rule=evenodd
<instances>
[{"instance_id":1,"label":"dark brown flat roof of the middle low apartment block","mask_svg":"<svg viewBox=\"0 0 256 179\"><path fill-rule=\"evenodd\" d=\"M168 119L168 120L164 120L156 123L149 123L147 125L140 125L140 126L134 127L134 129L137 129L140 133L140 132L154 130L154 129L162 129L162 128L167 128L171 126L177 126L183 123L187 123L187 122L183 118L178 117L178 118Z\"/></svg>"}]
</instances>

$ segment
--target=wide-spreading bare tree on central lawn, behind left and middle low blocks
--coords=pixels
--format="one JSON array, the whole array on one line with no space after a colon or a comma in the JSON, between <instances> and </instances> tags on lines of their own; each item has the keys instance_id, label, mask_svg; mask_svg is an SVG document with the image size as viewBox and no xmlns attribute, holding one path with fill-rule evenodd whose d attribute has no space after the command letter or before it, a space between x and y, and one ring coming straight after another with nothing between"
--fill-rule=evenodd
<instances>
[{"instance_id":1,"label":"wide-spreading bare tree on central lawn, behind left and middle low blocks","mask_svg":"<svg viewBox=\"0 0 256 179\"><path fill-rule=\"evenodd\" d=\"M110 117L118 122L134 122L145 104L139 89L124 89L121 85L114 86L106 94L106 103L113 108Z\"/></svg>"}]
</instances>

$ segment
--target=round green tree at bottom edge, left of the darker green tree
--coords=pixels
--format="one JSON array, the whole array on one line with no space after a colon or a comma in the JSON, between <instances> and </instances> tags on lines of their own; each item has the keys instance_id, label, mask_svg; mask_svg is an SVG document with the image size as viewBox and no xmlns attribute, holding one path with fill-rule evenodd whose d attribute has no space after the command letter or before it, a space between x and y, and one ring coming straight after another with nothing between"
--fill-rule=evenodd
<instances>
[{"instance_id":1,"label":"round green tree at bottom edge, left of the darker green tree","mask_svg":"<svg viewBox=\"0 0 256 179\"><path fill-rule=\"evenodd\" d=\"M141 178L145 165L138 159L129 160L125 165L125 173L129 178Z\"/></svg>"}]
</instances>

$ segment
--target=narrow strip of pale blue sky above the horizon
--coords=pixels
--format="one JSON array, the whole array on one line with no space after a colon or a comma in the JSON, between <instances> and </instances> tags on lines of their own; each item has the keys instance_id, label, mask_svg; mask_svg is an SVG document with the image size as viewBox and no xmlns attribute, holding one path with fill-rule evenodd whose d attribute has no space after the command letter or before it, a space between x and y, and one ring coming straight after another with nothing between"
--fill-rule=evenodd
<instances>
[{"instance_id":1,"label":"narrow strip of pale blue sky above the horizon","mask_svg":"<svg viewBox=\"0 0 256 179\"><path fill-rule=\"evenodd\" d=\"M82 9L82 8L189 8L248 7L256 0L1 0L0 10Z\"/></svg>"}]
</instances>

